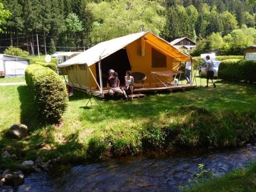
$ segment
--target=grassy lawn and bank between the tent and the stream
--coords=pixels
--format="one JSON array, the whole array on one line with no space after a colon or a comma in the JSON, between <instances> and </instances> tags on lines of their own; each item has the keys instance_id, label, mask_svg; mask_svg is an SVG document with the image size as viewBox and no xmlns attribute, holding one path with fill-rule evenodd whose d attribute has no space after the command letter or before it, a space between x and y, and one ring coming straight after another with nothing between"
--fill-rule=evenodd
<instances>
[{"instance_id":1,"label":"grassy lawn and bank between the tent and the stream","mask_svg":"<svg viewBox=\"0 0 256 192\"><path fill-rule=\"evenodd\" d=\"M175 145L236 146L254 137L253 84L221 81L217 89L148 93L146 99L105 100L100 101L100 106L93 101L89 107L85 107L86 95L75 91L63 123L54 129L36 121L26 85L0 89L4 98L1 101L6 102L0 109L2 151L10 148L27 160L41 156L74 162ZM10 139L5 133L18 123L28 125L29 135L22 140Z\"/></svg>"}]
</instances>

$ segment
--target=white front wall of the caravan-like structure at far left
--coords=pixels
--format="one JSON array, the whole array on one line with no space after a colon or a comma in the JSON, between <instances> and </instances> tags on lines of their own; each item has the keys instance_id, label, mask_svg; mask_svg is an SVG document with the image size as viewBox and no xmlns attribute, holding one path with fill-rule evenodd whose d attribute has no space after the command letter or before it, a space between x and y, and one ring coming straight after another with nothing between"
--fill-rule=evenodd
<instances>
[{"instance_id":1,"label":"white front wall of the caravan-like structure at far left","mask_svg":"<svg viewBox=\"0 0 256 192\"><path fill-rule=\"evenodd\" d=\"M28 61L4 61L5 77L23 77Z\"/></svg>"}]
</instances>

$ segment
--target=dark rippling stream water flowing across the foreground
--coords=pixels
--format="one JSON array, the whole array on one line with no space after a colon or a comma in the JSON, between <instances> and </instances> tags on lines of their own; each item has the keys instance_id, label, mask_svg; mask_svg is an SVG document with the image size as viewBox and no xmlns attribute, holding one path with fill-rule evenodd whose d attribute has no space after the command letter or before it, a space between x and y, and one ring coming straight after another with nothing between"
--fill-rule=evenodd
<instances>
[{"instance_id":1,"label":"dark rippling stream water flowing across the foreground","mask_svg":"<svg viewBox=\"0 0 256 192\"><path fill-rule=\"evenodd\" d=\"M194 178L198 164L219 176L255 160L256 146L204 155L137 156L33 173L14 191L179 191Z\"/></svg>"}]
</instances>

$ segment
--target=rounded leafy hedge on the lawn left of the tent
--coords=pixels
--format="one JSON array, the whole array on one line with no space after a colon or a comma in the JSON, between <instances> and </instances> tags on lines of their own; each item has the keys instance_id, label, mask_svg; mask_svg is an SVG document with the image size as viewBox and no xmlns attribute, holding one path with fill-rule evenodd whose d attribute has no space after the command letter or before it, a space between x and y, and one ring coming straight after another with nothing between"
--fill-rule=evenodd
<instances>
[{"instance_id":1,"label":"rounded leafy hedge on the lawn left of the tent","mask_svg":"<svg viewBox=\"0 0 256 192\"><path fill-rule=\"evenodd\" d=\"M27 85L34 90L39 117L45 124L61 121L68 105L66 86L60 76L41 65L29 65L25 71Z\"/></svg>"}]
</instances>

